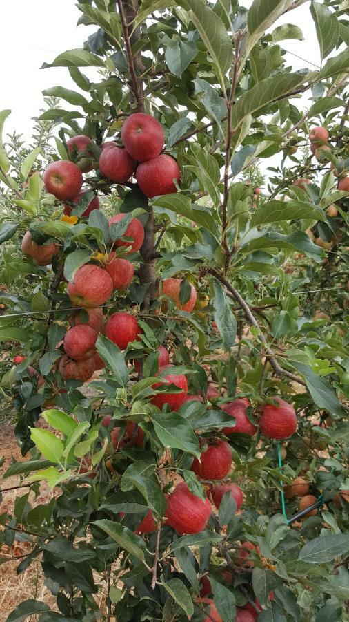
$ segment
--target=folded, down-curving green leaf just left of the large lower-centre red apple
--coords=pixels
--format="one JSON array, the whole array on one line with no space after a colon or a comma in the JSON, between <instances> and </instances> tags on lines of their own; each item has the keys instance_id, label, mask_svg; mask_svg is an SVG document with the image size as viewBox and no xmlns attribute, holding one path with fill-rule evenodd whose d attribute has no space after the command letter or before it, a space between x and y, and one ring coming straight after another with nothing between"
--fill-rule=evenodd
<instances>
[{"instance_id":1,"label":"folded, down-curving green leaf just left of the large lower-centre red apple","mask_svg":"<svg viewBox=\"0 0 349 622\"><path fill-rule=\"evenodd\" d=\"M121 490L127 492L134 488L146 499L148 507L162 518L166 510L166 499L155 479L153 464L139 460L128 466L122 476Z\"/></svg>"}]
</instances>

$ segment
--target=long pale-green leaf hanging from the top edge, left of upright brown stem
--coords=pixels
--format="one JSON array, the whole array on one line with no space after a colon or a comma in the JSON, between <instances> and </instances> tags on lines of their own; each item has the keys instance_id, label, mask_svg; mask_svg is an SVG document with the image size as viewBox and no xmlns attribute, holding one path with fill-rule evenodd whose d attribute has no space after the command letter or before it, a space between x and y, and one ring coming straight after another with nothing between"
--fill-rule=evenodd
<instances>
[{"instance_id":1,"label":"long pale-green leaf hanging from the top edge, left of upright brown stem","mask_svg":"<svg viewBox=\"0 0 349 622\"><path fill-rule=\"evenodd\" d=\"M189 12L192 23L212 57L217 77L223 86L224 75L232 66L232 42L223 22L202 0L182 0L177 4Z\"/></svg>"}]
</instances>

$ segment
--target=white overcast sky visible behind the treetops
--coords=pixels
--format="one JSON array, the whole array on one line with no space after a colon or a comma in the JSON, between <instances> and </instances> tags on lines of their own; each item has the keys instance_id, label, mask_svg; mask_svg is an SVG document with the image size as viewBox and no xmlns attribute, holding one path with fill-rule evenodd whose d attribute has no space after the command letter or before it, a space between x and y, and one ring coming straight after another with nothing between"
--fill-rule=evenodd
<instances>
[{"instance_id":1,"label":"white overcast sky visible behind the treetops","mask_svg":"<svg viewBox=\"0 0 349 622\"><path fill-rule=\"evenodd\" d=\"M250 6L246 1L245 6ZM59 53L82 46L96 30L92 26L76 26L80 12L74 0L17 0L1 8L0 109L11 109L5 133L16 129L27 138L32 133L32 117L42 107L41 91L50 86L77 86L70 79L68 69L40 69L43 62L51 62ZM319 66L319 46L315 27L310 17L309 3L287 13L279 23L295 23L303 30L304 41L284 41L283 47L303 57L288 55L294 69ZM89 74L92 68L83 69ZM297 101L297 100L294 100ZM66 106L66 104L64 104Z\"/></svg>"}]
</instances>

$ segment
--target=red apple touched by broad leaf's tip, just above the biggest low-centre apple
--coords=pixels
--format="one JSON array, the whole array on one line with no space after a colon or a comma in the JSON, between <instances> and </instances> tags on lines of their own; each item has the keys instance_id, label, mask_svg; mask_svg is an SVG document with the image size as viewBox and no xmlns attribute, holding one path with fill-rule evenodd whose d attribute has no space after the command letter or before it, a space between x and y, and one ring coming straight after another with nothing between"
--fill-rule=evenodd
<instances>
[{"instance_id":1,"label":"red apple touched by broad leaf's tip, just above the biggest low-centre apple","mask_svg":"<svg viewBox=\"0 0 349 622\"><path fill-rule=\"evenodd\" d=\"M194 458L191 470L201 480L223 480L232 468L232 450L225 441L214 439L206 451Z\"/></svg>"}]
</instances>

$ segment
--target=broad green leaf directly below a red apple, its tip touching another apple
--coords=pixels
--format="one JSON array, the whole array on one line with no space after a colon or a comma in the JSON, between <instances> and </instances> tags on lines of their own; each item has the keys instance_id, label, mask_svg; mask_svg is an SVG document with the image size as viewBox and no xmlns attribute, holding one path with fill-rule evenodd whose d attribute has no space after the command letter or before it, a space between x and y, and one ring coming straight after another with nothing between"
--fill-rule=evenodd
<instances>
[{"instance_id":1,"label":"broad green leaf directly below a red apple, its tip touching another apple","mask_svg":"<svg viewBox=\"0 0 349 622\"><path fill-rule=\"evenodd\" d=\"M150 419L164 447L182 449L200 457L199 442L188 420L178 413L154 413Z\"/></svg>"}]
</instances>

